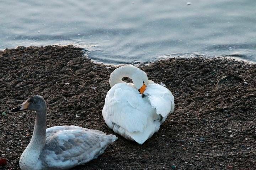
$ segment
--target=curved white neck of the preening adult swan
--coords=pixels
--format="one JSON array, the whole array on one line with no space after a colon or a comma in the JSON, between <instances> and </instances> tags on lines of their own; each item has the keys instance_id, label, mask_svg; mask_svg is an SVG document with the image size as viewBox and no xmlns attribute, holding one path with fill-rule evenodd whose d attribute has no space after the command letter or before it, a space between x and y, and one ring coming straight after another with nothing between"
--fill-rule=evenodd
<instances>
[{"instance_id":1,"label":"curved white neck of the preening adult swan","mask_svg":"<svg viewBox=\"0 0 256 170\"><path fill-rule=\"evenodd\" d=\"M140 70L134 66L122 66L115 69L110 75L110 87L113 87L117 83L126 83L122 80L123 77L128 77L132 79L132 75Z\"/></svg>"}]
</instances>

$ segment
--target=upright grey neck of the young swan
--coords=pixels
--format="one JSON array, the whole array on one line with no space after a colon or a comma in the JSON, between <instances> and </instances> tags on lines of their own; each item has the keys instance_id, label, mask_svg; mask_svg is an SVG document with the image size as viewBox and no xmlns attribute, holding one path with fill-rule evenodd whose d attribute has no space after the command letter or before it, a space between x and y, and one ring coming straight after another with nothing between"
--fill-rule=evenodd
<instances>
[{"instance_id":1,"label":"upright grey neck of the young swan","mask_svg":"<svg viewBox=\"0 0 256 170\"><path fill-rule=\"evenodd\" d=\"M30 143L22 153L20 166L34 167L37 165L39 157L46 143L46 109L36 112L36 122Z\"/></svg>"}]
</instances>

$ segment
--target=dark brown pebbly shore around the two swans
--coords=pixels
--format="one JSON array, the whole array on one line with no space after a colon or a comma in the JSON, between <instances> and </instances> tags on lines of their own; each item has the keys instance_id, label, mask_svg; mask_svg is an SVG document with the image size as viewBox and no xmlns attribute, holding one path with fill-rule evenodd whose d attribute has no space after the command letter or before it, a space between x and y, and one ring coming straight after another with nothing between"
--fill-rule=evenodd
<instances>
[{"instance_id":1,"label":"dark brown pebbly shore around the two swans","mask_svg":"<svg viewBox=\"0 0 256 170\"><path fill-rule=\"evenodd\" d=\"M143 145L118 136L98 159L74 169L256 169L256 64L176 58L140 68L172 91L174 113ZM47 127L78 125L113 134L101 114L113 70L71 45L0 51L2 169L19 169L30 142L34 113L10 109L32 94L46 99Z\"/></svg>"}]
</instances>

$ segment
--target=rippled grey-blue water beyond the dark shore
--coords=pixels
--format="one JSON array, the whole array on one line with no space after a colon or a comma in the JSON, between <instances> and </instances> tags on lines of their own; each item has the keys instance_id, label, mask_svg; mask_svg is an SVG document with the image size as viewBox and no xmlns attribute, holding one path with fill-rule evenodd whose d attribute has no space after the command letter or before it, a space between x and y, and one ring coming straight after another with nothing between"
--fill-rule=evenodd
<instances>
[{"instance_id":1,"label":"rippled grey-blue water beyond the dark shore","mask_svg":"<svg viewBox=\"0 0 256 170\"><path fill-rule=\"evenodd\" d=\"M111 64L177 56L256 62L256 1L0 0L0 49L52 44L82 46Z\"/></svg>"}]
</instances>

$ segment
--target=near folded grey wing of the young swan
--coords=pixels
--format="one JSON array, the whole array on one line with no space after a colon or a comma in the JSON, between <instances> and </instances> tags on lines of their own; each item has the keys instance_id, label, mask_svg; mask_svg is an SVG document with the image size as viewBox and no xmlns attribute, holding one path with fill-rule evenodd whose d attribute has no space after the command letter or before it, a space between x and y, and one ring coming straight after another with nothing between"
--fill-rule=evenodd
<instances>
[{"instance_id":1,"label":"near folded grey wing of the young swan","mask_svg":"<svg viewBox=\"0 0 256 170\"><path fill-rule=\"evenodd\" d=\"M97 158L116 139L94 130L59 131L46 139L40 159L48 169L70 169Z\"/></svg>"}]
</instances>

